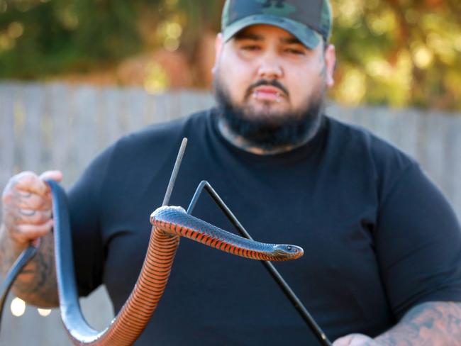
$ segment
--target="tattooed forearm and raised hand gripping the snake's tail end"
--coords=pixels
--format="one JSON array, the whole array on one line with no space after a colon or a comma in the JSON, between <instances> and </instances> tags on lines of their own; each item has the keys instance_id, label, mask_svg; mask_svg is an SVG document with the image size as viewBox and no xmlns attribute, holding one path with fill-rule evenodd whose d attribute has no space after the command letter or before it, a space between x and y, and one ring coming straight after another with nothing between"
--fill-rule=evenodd
<instances>
[{"instance_id":1,"label":"tattooed forearm and raised hand gripping the snake's tail end","mask_svg":"<svg viewBox=\"0 0 461 346\"><path fill-rule=\"evenodd\" d=\"M58 298L51 234L51 196L43 179L60 180L61 173L45 172L38 177L32 172L23 172L11 178L4 190L0 270L4 277L30 242L40 244L35 257L18 275L13 292L33 305L53 307L58 305Z\"/></svg>"}]
</instances>

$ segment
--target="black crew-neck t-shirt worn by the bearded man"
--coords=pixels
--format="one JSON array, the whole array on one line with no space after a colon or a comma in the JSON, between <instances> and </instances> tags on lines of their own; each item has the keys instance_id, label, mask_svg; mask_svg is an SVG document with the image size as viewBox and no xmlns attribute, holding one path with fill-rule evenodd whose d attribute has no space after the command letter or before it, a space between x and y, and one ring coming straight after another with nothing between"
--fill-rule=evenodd
<instances>
[{"instance_id":1,"label":"black crew-neck t-shirt worn by the bearded man","mask_svg":"<svg viewBox=\"0 0 461 346\"><path fill-rule=\"evenodd\" d=\"M253 155L206 111L128 135L70 191L79 289L105 284L118 311L143 264L183 137L170 205L206 179L255 240L304 248L275 264L328 337L378 335L417 303L461 301L461 230L413 160L366 130L324 117L306 145ZM194 216L233 230L204 195ZM170 281L135 345L317 345L260 263L182 239Z\"/></svg>"}]
</instances>

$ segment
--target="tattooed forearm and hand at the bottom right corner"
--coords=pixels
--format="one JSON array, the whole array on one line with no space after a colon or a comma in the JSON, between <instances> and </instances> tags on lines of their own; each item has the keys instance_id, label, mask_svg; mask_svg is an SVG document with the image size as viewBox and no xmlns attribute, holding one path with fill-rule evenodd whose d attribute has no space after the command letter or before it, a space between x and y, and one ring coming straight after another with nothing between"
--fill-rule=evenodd
<instances>
[{"instance_id":1,"label":"tattooed forearm and hand at the bottom right corner","mask_svg":"<svg viewBox=\"0 0 461 346\"><path fill-rule=\"evenodd\" d=\"M461 303L433 301L421 303L386 333L374 340L351 334L334 346L461 346Z\"/></svg>"}]
</instances>

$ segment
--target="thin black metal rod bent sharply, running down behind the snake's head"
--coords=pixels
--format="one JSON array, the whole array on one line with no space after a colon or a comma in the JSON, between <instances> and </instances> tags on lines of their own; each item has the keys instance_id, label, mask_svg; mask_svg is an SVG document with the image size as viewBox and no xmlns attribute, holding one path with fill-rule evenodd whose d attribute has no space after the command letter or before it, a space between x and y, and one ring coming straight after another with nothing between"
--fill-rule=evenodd
<instances>
[{"instance_id":1,"label":"thin black metal rod bent sharply, running down behind the snake's head","mask_svg":"<svg viewBox=\"0 0 461 346\"><path fill-rule=\"evenodd\" d=\"M206 189L211 198L218 204L219 208L221 208L221 211L223 211L223 213L227 216L229 221L235 226L235 228L237 228L240 235L242 235L242 237L244 238L252 240L250 234L245 230L245 228L243 228L243 225L233 215L232 211L230 211L228 206L226 206L226 203L224 203L221 197L218 196L216 191L214 191L209 182L203 181L199 184L195 191L194 197L192 197L191 203L189 203L187 213L192 213L203 189ZM330 340L328 340L328 337L326 337L326 334L323 333L323 330L321 330L320 326L313 319L309 311L307 311L304 304L301 302L301 300L299 300L299 298L296 296L289 284L287 284L287 281L285 281L282 275L277 271L277 269L275 269L274 265L269 261L261 261L261 263L262 265L264 265L267 271L270 272L270 275L277 282L277 284L279 284L285 296L289 298L289 301L291 301L294 308L296 308L296 311L298 311L298 313L301 315L301 318L303 318L303 320L307 323L309 328L311 328L313 334L316 335L321 345L331 346L332 344Z\"/></svg>"}]
</instances>

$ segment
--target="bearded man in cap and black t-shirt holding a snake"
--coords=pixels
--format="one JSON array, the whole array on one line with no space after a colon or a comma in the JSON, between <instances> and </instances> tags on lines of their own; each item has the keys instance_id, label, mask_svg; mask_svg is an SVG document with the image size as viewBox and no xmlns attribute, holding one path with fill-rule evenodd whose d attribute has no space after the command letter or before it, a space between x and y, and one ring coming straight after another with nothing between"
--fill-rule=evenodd
<instances>
[{"instance_id":1,"label":"bearded man in cap and black t-shirt holding a snake","mask_svg":"<svg viewBox=\"0 0 461 346\"><path fill-rule=\"evenodd\" d=\"M253 238L304 247L277 265L335 345L461 345L461 231L411 158L323 115L333 85L327 0L228 0L216 39L218 107L122 138L70 191L81 294L105 284L118 311L148 244L175 152L189 138L170 204L201 179ZM4 191L1 262L40 254L15 292L57 305L44 178ZM194 214L230 229L211 201ZM4 269L5 270L5 269ZM165 295L136 345L317 345L260 264L182 240Z\"/></svg>"}]
</instances>

